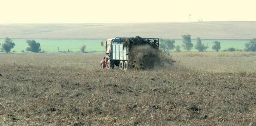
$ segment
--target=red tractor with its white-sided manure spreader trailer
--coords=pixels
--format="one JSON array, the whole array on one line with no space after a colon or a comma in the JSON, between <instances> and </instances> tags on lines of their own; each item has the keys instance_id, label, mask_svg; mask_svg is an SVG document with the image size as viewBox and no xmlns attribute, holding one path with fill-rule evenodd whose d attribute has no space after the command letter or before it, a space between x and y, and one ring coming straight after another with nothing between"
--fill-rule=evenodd
<instances>
[{"instance_id":1,"label":"red tractor with its white-sided manure spreader trailer","mask_svg":"<svg viewBox=\"0 0 256 126\"><path fill-rule=\"evenodd\" d=\"M107 41L102 41L101 46L105 46L106 56L100 61L100 68L114 68L118 66L120 70L128 69L128 49L127 47L123 48L123 42L129 38L112 38L107 39ZM155 45L159 46L158 38L145 38L148 40L155 41Z\"/></svg>"}]
</instances>

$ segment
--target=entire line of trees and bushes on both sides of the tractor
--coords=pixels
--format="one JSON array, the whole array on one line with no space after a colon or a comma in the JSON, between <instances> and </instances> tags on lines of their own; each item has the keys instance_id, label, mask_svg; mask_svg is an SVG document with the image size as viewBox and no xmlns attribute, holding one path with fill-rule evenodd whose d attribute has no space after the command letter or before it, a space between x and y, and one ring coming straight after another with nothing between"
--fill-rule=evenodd
<instances>
[{"instance_id":1,"label":"entire line of trees and bushes on both sides of the tractor","mask_svg":"<svg viewBox=\"0 0 256 126\"><path fill-rule=\"evenodd\" d=\"M161 49L163 49L164 52L169 52L173 49L175 49L176 52L181 52L181 47L186 50L186 51L191 51L191 49L194 48L197 49L199 52L204 52L206 51L206 49L209 48L208 44L204 45L201 41L201 38L197 37L196 39L196 43L195 45L191 42L191 35L186 34L186 35L182 35L182 45L175 45L175 40L171 40L171 39L160 39L161 43L160 43L160 47ZM41 51L41 47L40 47L40 43L36 42L35 40L27 40L27 44L28 47L26 49L26 51L31 51L31 52L40 52ZM10 52L12 48L14 48L15 43L12 41L12 39L6 37L4 40L4 43L0 43L0 45L2 46L2 50L5 52ZM213 42L213 46L212 49L215 50L216 52L220 51L220 42L219 41L214 41ZM85 53L86 49L86 45L81 46L80 48L80 52ZM58 47L59 50L59 47ZM242 51L242 50L237 50L235 48L228 48L226 50L223 51ZM243 51L252 51L255 52L256 51L256 38L250 40L249 42L247 42L245 44L245 48Z\"/></svg>"}]
</instances>

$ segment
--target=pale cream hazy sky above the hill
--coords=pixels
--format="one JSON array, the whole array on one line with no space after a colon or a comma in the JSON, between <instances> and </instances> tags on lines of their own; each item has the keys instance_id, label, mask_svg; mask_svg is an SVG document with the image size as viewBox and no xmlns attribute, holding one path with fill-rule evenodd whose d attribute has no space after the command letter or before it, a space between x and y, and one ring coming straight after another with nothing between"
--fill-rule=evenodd
<instances>
[{"instance_id":1,"label":"pale cream hazy sky above the hill","mask_svg":"<svg viewBox=\"0 0 256 126\"><path fill-rule=\"evenodd\" d=\"M256 0L0 0L0 23L256 21Z\"/></svg>"}]
</instances>

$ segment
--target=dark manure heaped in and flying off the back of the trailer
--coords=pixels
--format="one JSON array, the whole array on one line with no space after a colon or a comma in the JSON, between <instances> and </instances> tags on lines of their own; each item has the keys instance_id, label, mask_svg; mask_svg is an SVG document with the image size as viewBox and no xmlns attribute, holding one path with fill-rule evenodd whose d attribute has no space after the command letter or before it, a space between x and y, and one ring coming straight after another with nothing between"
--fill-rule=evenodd
<instances>
[{"instance_id":1,"label":"dark manure heaped in and flying off the back of the trailer","mask_svg":"<svg viewBox=\"0 0 256 126\"><path fill-rule=\"evenodd\" d=\"M139 36L124 41L123 47L128 48L128 64L131 68L152 69L155 66L172 65L175 60L170 54L159 50L157 40L143 39ZM159 42L158 42L159 43Z\"/></svg>"}]
</instances>

